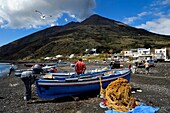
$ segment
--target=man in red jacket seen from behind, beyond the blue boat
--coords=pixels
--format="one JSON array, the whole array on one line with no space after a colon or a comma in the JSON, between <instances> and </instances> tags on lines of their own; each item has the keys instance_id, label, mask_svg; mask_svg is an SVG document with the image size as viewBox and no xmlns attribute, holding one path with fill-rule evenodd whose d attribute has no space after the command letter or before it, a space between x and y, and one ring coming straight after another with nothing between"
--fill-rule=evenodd
<instances>
[{"instance_id":1,"label":"man in red jacket seen from behind, beyond the blue boat","mask_svg":"<svg viewBox=\"0 0 170 113\"><path fill-rule=\"evenodd\" d=\"M83 62L82 58L80 58L75 64L75 71L77 74L83 74L86 70L86 64Z\"/></svg>"}]
</instances>

